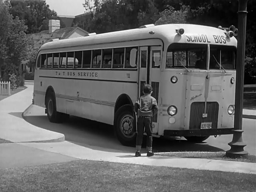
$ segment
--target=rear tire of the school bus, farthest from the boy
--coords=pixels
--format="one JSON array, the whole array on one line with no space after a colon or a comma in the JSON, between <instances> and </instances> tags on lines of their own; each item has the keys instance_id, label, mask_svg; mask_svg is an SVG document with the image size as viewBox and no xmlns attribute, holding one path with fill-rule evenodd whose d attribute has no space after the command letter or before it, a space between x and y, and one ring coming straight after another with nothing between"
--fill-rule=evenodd
<instances>
[{"instance_id":1,"label":"rear tire of the school bus, farthest from the boy","mask_svg":"<svg viewBox=\"0 0 256 192\"><path fill-rule=\"evenodd\" d=\"M63 115L56 111L56 99L54 93L49 92L46 95L46 113L50 122L59 123L63 120Z\"/></svg>"}]
</instances>

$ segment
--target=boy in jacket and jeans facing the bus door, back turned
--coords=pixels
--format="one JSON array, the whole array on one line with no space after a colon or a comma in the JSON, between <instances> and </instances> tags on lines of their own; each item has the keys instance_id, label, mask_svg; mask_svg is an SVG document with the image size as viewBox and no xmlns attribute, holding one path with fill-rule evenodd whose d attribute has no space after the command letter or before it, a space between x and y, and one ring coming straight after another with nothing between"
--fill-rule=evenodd
<instances>
[{"instance_id":1,"label":"boy in jacket and jeans facing the bus door, back turned","mask_svg":"<svg viewBox=\"0 0 256 192\"><path fill-rule=\"evenodd\" d=\"M158 105L156 99L151 96L153 92L151 85L144 85L142 90L144 95L138 98L134 104L134 112L138 116L135 156L141 156L140 150L145 128L147 134L147 156L150 157L154 155L152 152L152 116L157 114Z\"/></svg>"}]
</instances>

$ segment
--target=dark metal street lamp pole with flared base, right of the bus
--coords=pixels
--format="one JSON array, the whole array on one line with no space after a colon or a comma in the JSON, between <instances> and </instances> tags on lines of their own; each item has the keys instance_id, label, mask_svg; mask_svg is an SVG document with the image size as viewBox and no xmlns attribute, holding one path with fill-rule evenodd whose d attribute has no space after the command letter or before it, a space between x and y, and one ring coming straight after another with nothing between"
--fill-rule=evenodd
<instances>
[{"instance_id":1,"label":"dark metal street lamp pole with flared base, right of the bus","mask_svg":"<svg viewBox=\"0 0 256 192\"><path fill-rule=\"evenodd\" d=\"M232 158L248 155L248 152L244 151L244 146L246 146L246 144L242 141L247 2L248 0L238 0L238 45L236 56L236 95L234 116L235 130L232 142L228 143L231 149L226 152L226 156Z\"/></svg>"}]
</instances>

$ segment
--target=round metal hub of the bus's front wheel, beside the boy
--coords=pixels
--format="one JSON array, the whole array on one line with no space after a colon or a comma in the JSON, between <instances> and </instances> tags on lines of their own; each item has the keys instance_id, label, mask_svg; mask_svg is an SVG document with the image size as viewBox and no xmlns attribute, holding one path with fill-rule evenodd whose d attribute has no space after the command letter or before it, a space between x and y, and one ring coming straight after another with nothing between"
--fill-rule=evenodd
<instances>
[{"instance_id":1,"label":"round metal hub of the bus's front wheel, beside the boy","mask_svg":"<svg viewBox=\"0 0 256 192\"><path fill-rule=\"evenodd\" d=\"M134 136L135 132L133 130L133 116L125 115L120 121L120 129L125 137L131 138Z\"/></svg>"}]
</instances>

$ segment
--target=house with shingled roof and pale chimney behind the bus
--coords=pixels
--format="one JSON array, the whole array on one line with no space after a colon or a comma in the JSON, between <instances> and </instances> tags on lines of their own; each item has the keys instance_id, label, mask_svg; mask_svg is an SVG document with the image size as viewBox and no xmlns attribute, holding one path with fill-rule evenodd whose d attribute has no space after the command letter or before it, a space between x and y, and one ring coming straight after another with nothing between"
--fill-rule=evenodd
<instances>
[{"instance_id":1,"label":"house with shingled roof and pale chimney behind the bus","mask_svg":"<svg viewBox=\"0 0 256 192\"><path fill-rule=\"evenodd\" d=\"M52 40L76 38L81 36L88 36L88 32L77 26L60 28L60 20L49 20L49 30L27 35L28 39L32 40L32 46L34 49L38 49L42 44ZM28 61L22 61L21 70L33 72L34 68L29 68L27 63Z\"/></svg>"}]
</instances>

